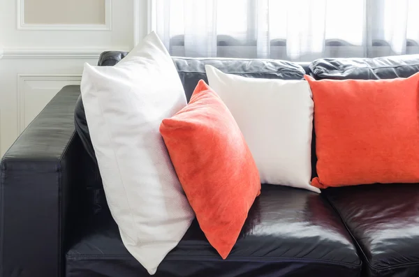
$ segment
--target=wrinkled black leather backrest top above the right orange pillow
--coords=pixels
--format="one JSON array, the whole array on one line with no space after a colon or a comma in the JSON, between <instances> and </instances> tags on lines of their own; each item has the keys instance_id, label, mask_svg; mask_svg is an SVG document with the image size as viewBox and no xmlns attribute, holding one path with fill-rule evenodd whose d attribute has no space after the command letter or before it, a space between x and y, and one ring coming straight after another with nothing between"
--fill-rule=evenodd
<instances>
[{"instance_id":1,"label":"wrinkled black leather backrest top above the right orange pillow","mask_svg":"<svg viewBox=\"0 0 419 277\"><path fill-rule=\"evenodd\" d=\"M379 57L374 59L317 59L310 66L311 75L321 79L394 79L419 72L419 55Z\"/></svg>"}]
</instances>

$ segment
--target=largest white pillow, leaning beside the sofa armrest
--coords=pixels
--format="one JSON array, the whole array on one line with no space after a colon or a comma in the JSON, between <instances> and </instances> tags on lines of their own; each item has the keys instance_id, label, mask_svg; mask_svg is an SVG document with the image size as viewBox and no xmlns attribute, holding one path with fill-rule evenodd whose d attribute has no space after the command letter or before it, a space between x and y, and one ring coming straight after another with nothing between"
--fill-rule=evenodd
<instances>
[{"instance_id":1,"label":"largest white pillow, leaning beside the sofa armrest","mask_svg":"<svg viewBox=\"0 0 419 277\"><path fill-rule=\"evenodd\" d=\"M150 33L116 66L84 63L81 91L110 211L124 246L154 274L195 217L159 133L186 105L182 82Z\"/></svg>"}]
</instances>

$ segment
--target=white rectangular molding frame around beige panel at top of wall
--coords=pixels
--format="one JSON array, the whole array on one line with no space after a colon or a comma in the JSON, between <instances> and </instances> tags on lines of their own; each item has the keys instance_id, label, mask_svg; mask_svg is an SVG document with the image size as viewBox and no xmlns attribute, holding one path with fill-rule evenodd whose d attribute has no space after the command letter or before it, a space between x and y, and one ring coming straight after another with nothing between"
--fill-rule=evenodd
<instances>
[{"instance_id":1,"label":"white rectangular molding frame around beige panel at top of wall","mask_svg":"<svg viewBox=\"0 0 419 277\"><path fill-rule=\"evenodd\" d=\"M18 30L32 31L110 31L112 30L112 0L105 0L105 24L27 24L24 22L24 0L16 0Z\"/></svg>"}]
</instances>

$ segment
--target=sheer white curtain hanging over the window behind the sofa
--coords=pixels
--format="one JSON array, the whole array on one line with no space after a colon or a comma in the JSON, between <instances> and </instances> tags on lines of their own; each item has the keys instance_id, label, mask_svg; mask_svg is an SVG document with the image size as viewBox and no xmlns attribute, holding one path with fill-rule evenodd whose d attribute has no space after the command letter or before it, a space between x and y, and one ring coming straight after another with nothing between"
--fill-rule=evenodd
<instances>
[{"instance_id":1,"label":"sheer white curtain hanging over the window behind the sofa","mask_svg":"<svg viewBox=\"0 0 419 277\"><path fill-rule=\"evenodd\" d=\"M419 0L152 0L152 29L186 57L419 53Z\"/></svg>"}]
</instances>

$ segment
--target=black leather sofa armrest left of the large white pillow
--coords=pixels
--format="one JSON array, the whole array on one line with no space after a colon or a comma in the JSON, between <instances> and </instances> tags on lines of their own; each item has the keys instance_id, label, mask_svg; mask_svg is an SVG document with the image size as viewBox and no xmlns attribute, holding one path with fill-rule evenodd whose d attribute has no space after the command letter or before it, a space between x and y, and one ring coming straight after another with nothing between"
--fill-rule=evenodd
<instances>
[{"instance_id":1,"label":"black leather sofa armrest left of the large white pillow","mask_svg":"<svg viewBox=\"0 0 419 277\"><path fill-rule=\"evenodd\" d=\"M69 200L83 186L79 95L78 86L61 89L1 160L0 276L63 276Z\"/></svg>"}]
</instances>

